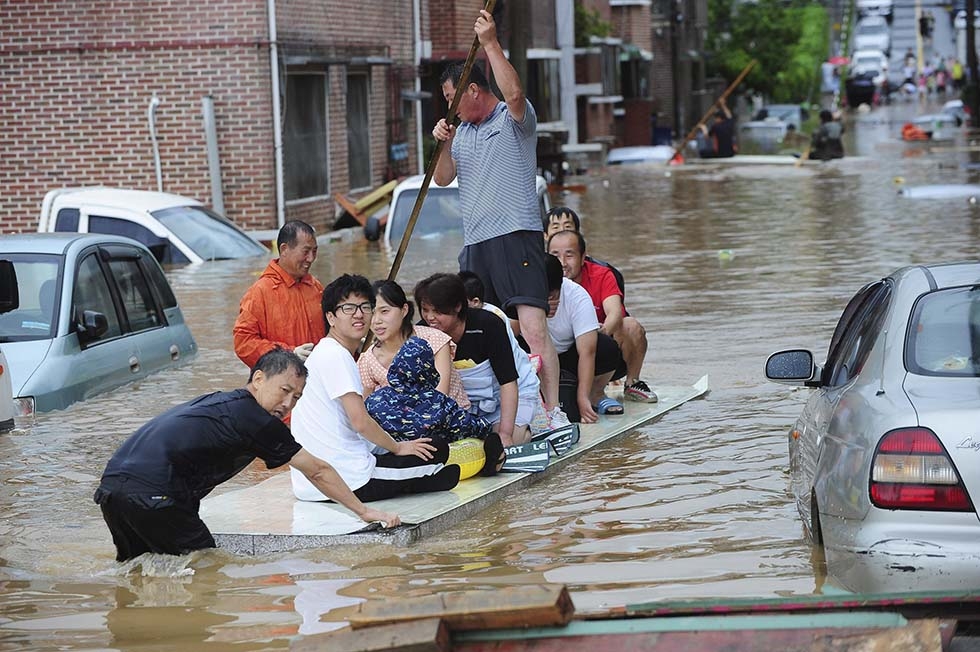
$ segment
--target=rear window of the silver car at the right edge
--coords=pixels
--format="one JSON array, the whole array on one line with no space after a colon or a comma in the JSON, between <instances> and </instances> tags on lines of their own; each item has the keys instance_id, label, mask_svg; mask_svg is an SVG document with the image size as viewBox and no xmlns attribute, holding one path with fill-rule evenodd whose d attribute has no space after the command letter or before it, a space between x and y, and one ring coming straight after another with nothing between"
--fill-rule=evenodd
<instances>
[{"instance_id":1,"label":"rear window of the silver car at the right edge","mask_svg":"<svg viewBox=\"0 0 980 652\"><path fill-rule=\"evenodd\" d=\"M980 286L932 292L916 304L906 363L926 376L980 376Z\"/></svg>"}]
</instances>

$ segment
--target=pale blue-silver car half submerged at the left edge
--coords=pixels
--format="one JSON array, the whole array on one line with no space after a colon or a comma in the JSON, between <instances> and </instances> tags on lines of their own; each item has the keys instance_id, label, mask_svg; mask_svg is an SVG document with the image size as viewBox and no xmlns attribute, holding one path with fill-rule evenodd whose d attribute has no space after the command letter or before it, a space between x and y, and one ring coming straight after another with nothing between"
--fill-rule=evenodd
<instances>
[{"instance_id":1,"label":"pale blue-silver car half submerged at the left edge","mask_svg":"<svg viewBox=\"0 0 980 652\"><path fill-rule=\"evenodd\" d=\"M112 235L0 238L0 346L20 416L189 360L197 344L159 263Z\"/></svg>"}]
</instances>

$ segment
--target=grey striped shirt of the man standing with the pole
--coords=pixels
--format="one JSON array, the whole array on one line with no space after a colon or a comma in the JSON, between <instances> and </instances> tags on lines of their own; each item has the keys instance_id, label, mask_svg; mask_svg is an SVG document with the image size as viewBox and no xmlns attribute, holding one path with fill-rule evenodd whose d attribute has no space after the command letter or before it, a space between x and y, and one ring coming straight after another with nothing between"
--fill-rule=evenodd
<instances>
[{"instance_id":1,"label":"grey striped shirt of the man standing with the pole","mask_svg":"<svg viewBox=\"0 0 980 652\"><path fill-rule=\"evenodd\" d=\"M451 153L459 177L464 245L541 230L537 127L530 102L522 123L500 102L479 125L464 122L457 129Z\"/></svg>"}]
</instances>

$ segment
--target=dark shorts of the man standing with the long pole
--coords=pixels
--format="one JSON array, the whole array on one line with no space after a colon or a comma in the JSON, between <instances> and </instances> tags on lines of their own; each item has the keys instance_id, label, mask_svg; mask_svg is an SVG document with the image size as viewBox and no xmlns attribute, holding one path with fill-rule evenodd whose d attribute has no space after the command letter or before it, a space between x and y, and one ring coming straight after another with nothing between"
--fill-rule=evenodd
<instances>
[{"instance_id":1,"label":"dark shorts of the man standing with the long pole","mask_svg":"<svg viewBox=\"0 0 980 652\"><path fill-rule=\"evenodd\" d=\"M516 319L517 306L548 312L546 255L540 231L515 231L463 247L459 269L479 276L484 300Z\"/></svg>"}]
</instances>

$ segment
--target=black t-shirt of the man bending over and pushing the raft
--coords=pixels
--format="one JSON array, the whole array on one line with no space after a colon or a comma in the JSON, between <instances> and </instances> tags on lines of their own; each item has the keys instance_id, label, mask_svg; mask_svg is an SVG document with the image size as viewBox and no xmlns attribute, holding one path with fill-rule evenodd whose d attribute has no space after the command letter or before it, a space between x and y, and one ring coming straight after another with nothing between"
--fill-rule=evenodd
<instances>
[{"instance_id":1,"label":"black t-shirt of the man bending over and pushing the raft","mask_svg":"<svg viewBox=\"0 0 980 652\"><path fill-rule=\"evenodd\" d=\"M102 487L198 501L256 457L270 469L302 447L246 389L206 394L147 422L123 442Z\"/></svg>"}]
</instances>

